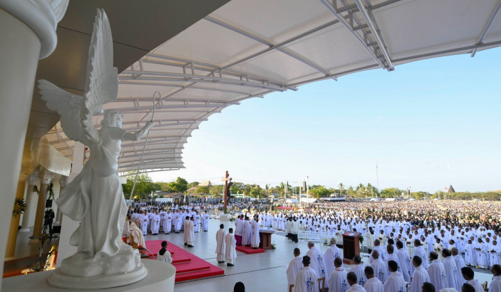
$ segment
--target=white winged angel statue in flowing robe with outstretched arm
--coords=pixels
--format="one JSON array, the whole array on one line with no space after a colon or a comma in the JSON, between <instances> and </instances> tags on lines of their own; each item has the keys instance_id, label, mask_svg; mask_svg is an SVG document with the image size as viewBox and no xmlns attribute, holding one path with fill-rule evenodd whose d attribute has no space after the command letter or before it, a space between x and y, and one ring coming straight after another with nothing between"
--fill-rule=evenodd
<instances>
[{"instance_id":1,"label":"white winged angel statue in flowing robe with outstretched arm","mask_svg":"<svg viewBox=\"0 0 501 292\"><path fill-rule=\"evenodd\" d=\"M102 104L112 102L118 94L111 28L104 10L97 10L95 18L85 95L72 95L45 80L40 80L39 84L47 107L61 115L61 127L66 136L87 145L92 153L80 174L61 191L56 200L61 212L81 224L70 239L71 245L78 246L77 253L63 260L61 269L49 278L49 282L65 288L77 288L72 277L104 277L102 275L127 273L129 282L115 286L143 279L147 271L140 261L138 251L123 243L121 238L127 206L117 174L117 159L121 140L143 138L154 123L147 122L140 131L129 133L120 129L122 113L108 110L104 113L102 128L97 130L93 125L93 114L100 113ZM130 281L134 275L136 279ZM88 281L82 284L89 288Z\"/></svg>"}]
</instances>

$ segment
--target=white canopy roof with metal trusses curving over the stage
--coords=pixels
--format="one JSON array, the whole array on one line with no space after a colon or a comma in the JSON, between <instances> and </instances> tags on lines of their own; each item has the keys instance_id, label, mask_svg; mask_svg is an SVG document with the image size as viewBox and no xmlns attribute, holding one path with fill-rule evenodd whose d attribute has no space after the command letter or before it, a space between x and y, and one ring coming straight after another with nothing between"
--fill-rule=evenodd
<instances>
[{"instance_id":1,"label":"white canopy roof with metal trusses curving over the stage","mask_svg":"<svg viewBox=\"0 0 501 292\"><path fill-rule=\"evenodd\" d=\"M232 0L123 71L118 99L106 108L120 109L123 128L136 131L151 120L159 91L141 170L183 168L191 132L226 106L353 72L475 56L501 45L500 6L499 0ZM49 140L71 156L72 143L56 129ZM138 168L143 144L122 143L120 172Z\"/></svg>"}]
</instances>

